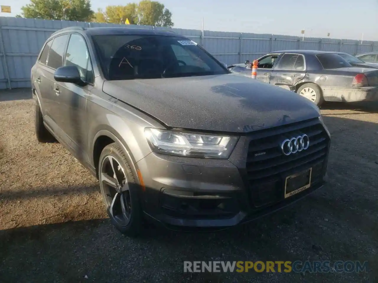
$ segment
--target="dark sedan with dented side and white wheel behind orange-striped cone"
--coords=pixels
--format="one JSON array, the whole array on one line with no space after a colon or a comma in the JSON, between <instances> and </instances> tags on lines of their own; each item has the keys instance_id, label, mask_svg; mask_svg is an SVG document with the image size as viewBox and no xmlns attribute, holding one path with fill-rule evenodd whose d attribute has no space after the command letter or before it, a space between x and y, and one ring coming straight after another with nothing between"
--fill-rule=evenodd
<instances>
[{"instance_id":1,"label":"dark sedan with dented side and white wheel behind orange-striped cone","mask_svg":"<svg viewBox=\"0 0 378 283\"><path fill-rule=\"evenodd\" d=\"M257 80L287 88L318 106L324 101L378 101L378 69L353 67L335 52L282 50L257 61ZM248 60L228 69L251 77Z\"/></svg>"}]
</instances>

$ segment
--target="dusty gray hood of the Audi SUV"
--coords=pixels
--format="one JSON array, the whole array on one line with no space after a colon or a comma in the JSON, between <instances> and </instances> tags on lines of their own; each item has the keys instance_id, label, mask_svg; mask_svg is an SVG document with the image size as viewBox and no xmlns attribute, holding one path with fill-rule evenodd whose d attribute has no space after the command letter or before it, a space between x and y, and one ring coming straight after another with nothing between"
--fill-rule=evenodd
<instances>
[{"instance_id":1,"label":"dusty gray hood of the Audi SUV","mask_svg":"<svg viewBox=\"0 0 378 283\"><path fill-rule=\"evenodd\" d=\"M307 98L236 74L106 81L103 91L173 128L251 132L319 116Z\"/></svg>"}]
</instances>

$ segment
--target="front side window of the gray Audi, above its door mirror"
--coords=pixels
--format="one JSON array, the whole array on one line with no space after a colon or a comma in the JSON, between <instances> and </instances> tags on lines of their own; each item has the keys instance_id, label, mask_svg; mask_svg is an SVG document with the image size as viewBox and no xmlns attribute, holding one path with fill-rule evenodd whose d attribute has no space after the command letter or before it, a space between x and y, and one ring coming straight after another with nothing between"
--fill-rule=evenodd
<instances>
[{"instance_id":1,"label":"front side window of the gray Audi, above its door mirror","mask_svg":"<svg viewBox=\"0 0 378 283\"><path fill-rule=\"evenodd\" d=\"M87 81L87 75L89 75L87 71L92 71L91 66L88 68L88 61L90 63L89 52L84 38L79 34L71 34L64 66L76 66L79 69L81 79ZM88 82L93 82L93 79L90 78Z\"/></svg>"}]
</instances>

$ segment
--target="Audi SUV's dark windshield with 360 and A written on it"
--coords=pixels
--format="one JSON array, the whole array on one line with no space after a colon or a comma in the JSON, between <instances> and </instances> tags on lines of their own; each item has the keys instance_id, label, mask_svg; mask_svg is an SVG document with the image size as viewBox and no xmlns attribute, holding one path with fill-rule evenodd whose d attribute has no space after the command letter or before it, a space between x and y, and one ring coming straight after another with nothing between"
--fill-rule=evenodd
<instances>
[{"instance_id":1,"label":"Audi SUV's dark windshield with 360 and A written on it","mask_svg":"<svg viewBox=\"0 0 378 283\"><path fill-rule=\"evenodd\" d=\"M95 35L93 42L107 80L229 73L197 43L182 37Z\"/></svg>"}]
</instances>

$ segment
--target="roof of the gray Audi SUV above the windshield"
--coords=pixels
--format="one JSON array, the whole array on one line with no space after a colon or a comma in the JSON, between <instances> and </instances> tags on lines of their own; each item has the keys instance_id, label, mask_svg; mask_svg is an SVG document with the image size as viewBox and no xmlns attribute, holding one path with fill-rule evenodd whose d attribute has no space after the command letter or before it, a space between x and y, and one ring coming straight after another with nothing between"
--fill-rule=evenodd
<instances>
[{"instance_id":1,"label":"roof of the gray Audi SUV above the windshield","mask_svg":"<svg viewBox=\"0 0 378 283\"><path fill-rule=\"evenodd\" d=\"M57 34L62 31L84 31L90 35L107 35L107 34L138 34L138 35L163 35L163 36L179 36L184 37L183 35L179 35L173 31L161 31L157 29L141 29L141 28L83 28L81 26L72 26L64 29L60 29L56 31L54 34Z\"/></svg>"}]
</instances>

